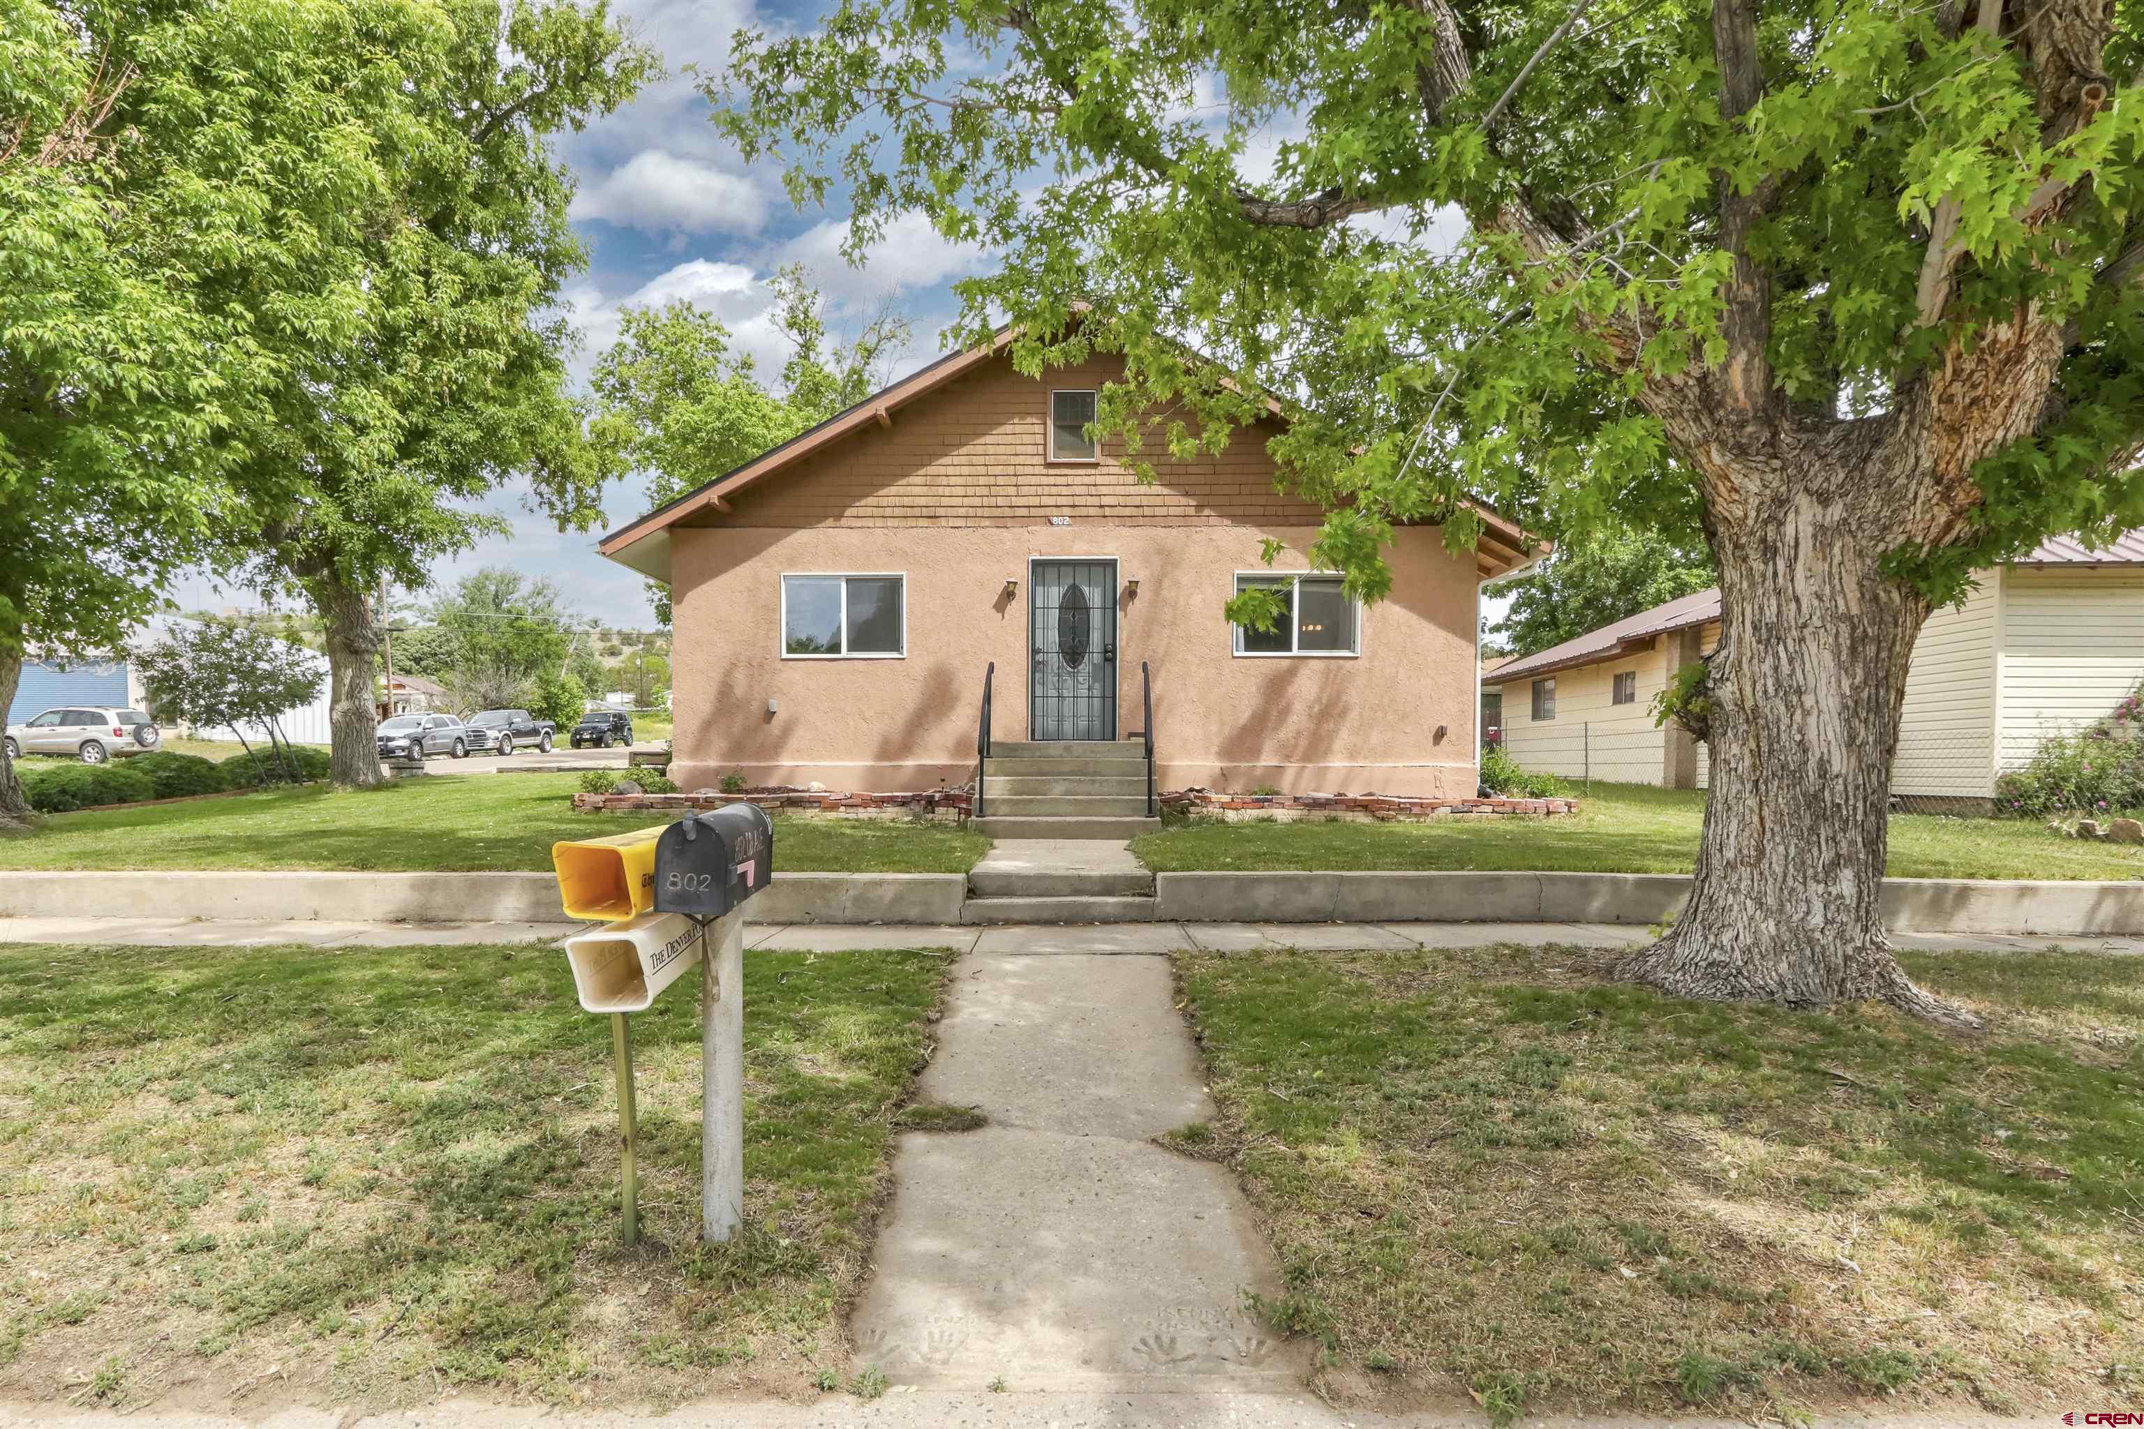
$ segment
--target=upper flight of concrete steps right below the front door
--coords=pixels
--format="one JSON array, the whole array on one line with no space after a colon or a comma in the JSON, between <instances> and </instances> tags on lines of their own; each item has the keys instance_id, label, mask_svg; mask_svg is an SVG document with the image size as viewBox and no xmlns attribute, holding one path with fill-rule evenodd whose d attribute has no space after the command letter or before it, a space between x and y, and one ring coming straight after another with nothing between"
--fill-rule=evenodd
<instances>
[{"instance_id":1,"label":"upper flight of concrete steps right below the front door","mask_svg":"<svg viewBox=\"0 0 2144 1429\"><path fill-rule=\"evenodd\" d=\"M1147 818L1147 748L1138 739L993 743L982 812L976 831L999 842L1128 840L1162 827Z\"/></svg>"}]
</instances>

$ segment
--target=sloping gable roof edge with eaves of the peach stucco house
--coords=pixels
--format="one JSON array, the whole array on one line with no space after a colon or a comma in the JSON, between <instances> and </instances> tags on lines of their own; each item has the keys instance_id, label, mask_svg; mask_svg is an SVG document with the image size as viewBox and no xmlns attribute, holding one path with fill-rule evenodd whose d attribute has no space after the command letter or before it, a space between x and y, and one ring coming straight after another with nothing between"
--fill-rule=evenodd
<instances>
[{"instance_id":1,"label":"sloping gable roof edge with eaves of the peach stucco house","mask_svg":"<svg viewBox=\"0 0 2144 1429\"><path fill-rule=\"evenodd\" d=\"M742 467L725 471L712 482L658 506L628 525L617 527L596 542L596 553L617 561L620 566L628 566L643 576L669 581L671 527L705 510L727 512L729 497L735 493L768 480L776 471L783 471L806 456L843 441L845 437L868 431L873 424L892 426L894 411L928 396L930 392L937 392L952 379L982 366L984 362L999 358L1016 336L1018 328L999 328L991 334L988 343L978 343L965 351L948 354L937 362L909 373L900 381L879 388L847 411L838 411L825 422L800 431L795 437L789 437L789 441L768 448ZM1282 422L1289 420L1278 401L1267 398L1265 405L1274 418ZM1475 546L1477 566L1488 566L1488 570L1482 572L1484 578L1509 576L1520 566L1529 566L1548 555L1548 542L1529 538L1527 531L1507 516L1471 499L1466 501L1466 508L1484 521L1484 533Z\"/></svg>"}]
</instances>

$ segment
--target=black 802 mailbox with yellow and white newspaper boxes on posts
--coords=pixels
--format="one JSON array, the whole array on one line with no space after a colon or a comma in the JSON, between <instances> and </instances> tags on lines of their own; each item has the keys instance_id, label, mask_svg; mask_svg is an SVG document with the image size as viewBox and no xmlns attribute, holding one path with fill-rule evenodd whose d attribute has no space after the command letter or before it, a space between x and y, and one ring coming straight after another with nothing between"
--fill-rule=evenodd
<instances>
[{"instance_id":1,"label":"black 802 mailbox with yellow and white newspaper boxes on posts","mask_svg":"<svg viewBox=\"0 0 2144 1429\"><path fill-rule=\"evenodd\" d=\"M701 964L701 1238L720 1245L744 1223L744 902L774 878L774 823L731 803L662 829L566 840L551 861L570 917L611 919L568 938L566 956L581 1007L611 1013L626 1245L639 1236L626 1016Z\"/></svg>"}]
</instances>

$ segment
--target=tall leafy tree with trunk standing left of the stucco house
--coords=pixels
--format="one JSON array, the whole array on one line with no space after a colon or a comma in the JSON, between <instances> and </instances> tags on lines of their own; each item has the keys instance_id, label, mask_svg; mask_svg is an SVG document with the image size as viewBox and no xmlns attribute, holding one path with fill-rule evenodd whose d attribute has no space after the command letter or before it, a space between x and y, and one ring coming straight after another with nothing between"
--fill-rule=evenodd
<instances>
[{"instance_id":1,"label":"tall leafy tree with trunk standing left of the stucco house","mask_svg":"<svg viewBox=\"0 0 2144 1429\"><path fill-rule=\"evenodd\" d=\"M373 743L382 581L422 585L506 523L470 510L504 482L562 529L602 518L609 467L566 383L564 281L585 264L551 137L624 103L658 66L602 0L431 0L397 51L401 156L360 249L367 328L324 343L285 446L249 463L229 544L326 628L332 778L384 778Z\"/></svg>"}]
</instances>

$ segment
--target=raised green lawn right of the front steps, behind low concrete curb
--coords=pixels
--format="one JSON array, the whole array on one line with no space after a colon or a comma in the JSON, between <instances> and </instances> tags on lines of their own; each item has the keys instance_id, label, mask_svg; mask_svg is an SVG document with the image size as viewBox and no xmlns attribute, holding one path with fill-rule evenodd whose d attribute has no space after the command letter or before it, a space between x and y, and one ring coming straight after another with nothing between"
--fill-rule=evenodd
<instances>
[{"instance_id":1,"label":"raised green lawn right of the front steps, behind low concrete curb","mask_svg":"<svg viewBox=\"0 0 2144 1429\"><path fill-rule=\"evenodd\" d=\"M1565 868L1687 874L1698 857L1704 793L1593 784L1576 816L1441 823L1175 823L1132 842L1156 872L1344 868ZM2084 844L2037 821L1891 818L1900 878L2144 878L2144 848Z\"/></svg>"}]
</instances>

